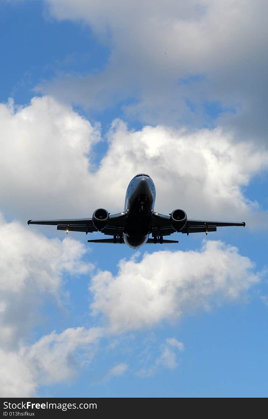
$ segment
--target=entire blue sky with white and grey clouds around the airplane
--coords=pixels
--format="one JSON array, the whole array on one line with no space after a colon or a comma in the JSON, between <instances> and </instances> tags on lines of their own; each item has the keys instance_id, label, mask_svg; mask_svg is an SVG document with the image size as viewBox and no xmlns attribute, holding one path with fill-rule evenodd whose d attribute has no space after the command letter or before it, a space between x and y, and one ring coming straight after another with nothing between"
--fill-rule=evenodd
<instances>
[{"instance_id":1,"label":"entire blue sky with white and grey clouds around the airplane","mask_svg":"<svg viewBox=\"0 0 268 419\"><path fill-rule=\"evenodd\" d=\"M0 396L267 396L267 13L0 0ZM120 212L143 171L155 210L246 228L133 251L27 225Z\"/></svg>"}]
</instances>

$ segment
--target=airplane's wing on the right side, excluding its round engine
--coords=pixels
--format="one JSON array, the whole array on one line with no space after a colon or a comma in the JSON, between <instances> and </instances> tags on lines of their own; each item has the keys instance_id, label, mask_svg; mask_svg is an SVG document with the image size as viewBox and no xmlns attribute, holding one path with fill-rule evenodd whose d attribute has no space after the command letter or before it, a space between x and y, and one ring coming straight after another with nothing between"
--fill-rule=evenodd
<instances>
[{"instance_id":1,"label":"airplane's wing on the right side, excluding its round engine","mask_svg":"<svg viewBox=\"0 0 268 419\"><path fill-rule=\"evenodd\" d=\"M245 222L225 222L225 221L206 221L206 220L187 220L185 227L180 233L208 233L216 231L217 227L243 226ZM154 214L152 218L152 234L153 235L170 235L176 230L170 224L170 217L163 214Z\"/></svg>"}]
</instances>

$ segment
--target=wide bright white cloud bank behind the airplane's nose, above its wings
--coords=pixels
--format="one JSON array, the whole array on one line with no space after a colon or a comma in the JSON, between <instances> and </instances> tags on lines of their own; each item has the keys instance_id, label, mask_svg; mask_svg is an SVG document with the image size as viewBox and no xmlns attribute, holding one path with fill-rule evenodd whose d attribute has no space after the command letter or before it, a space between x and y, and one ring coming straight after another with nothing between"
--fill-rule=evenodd
<instances>
[{"instance_id":1,"label":"wide bright white cloud bank behind the airplane's nose, above its wings","mask_svg":"<svg viewBox=\"0 0 268 419\"><path fill-rule=\"evenodd\" d=\"M1 209L24 222L91 217L97 207L119 212L130 179L144 171L155 181L159 212L183 207L188 217L267 223L244 190L267 170L268 153L221 129L129 131L115 120L98 168L99 129L53 98L33 98L19 109L0 105L0 130Z\"/></svg>"}]
</instances>

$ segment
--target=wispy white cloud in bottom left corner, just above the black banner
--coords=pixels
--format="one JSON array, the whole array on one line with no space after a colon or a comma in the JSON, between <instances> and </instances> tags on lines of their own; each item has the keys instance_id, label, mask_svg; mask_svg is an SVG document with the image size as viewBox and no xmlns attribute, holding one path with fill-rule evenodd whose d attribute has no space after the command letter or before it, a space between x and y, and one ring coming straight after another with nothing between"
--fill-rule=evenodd
<instances>
[{"instance_id":1,"label":"wispy white cloud in bottom left corner, just above the black banner","mask_svg":"<svg viewBox=\"0 0 268 419\"><path fill-rule=\"evenodd\" d=\"M36 396L40 385L75 378L94 356L102 334L98 328L69 328L16 351L1 349L1 397Z\"/></svg>"}]
</instances>

